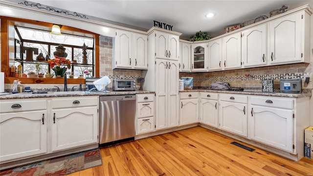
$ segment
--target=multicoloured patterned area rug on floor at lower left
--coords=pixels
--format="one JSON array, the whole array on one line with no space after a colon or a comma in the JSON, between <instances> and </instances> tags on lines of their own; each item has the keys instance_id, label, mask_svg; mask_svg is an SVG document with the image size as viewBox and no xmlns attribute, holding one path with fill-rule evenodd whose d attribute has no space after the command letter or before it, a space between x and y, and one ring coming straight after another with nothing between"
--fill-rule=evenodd
<instances>
[{"instance_id":1,"label":"multicoloured patterned area rug on floor at lower left","mask_svg":"<svg viewBox=\"0 0 313 176\"><path fill-rule=\"evenodd\" d=\"M99 149L56 157L26 166L0 171L0 176L65 176L102 165Z\"/></svg>"}]
</instances>

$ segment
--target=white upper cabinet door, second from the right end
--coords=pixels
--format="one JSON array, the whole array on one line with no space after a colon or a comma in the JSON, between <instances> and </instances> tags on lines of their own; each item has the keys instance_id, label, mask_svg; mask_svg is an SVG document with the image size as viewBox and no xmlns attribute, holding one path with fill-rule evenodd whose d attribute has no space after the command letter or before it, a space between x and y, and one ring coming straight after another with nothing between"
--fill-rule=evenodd
<instances>
[{"instance_id":1,"label":"white upper cabinet door, second from the right end","mask_svg":"<svg viewBox=\"0 0 313 176\"><path fill-rule=\"evenodd\" d=\"M245 30L242 34L244 67L267 65L267 24Z\"/></svg>"}]
</instances>

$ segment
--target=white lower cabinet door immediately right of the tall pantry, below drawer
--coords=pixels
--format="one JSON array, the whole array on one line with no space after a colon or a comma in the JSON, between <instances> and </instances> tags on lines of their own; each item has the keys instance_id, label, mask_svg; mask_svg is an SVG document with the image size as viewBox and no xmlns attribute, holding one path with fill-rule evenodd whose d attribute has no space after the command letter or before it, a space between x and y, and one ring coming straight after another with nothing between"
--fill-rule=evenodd
<instances>
[{"instance_id":1,"label":"white lower cabinet door immediately right of the tall pantry, below drawer","mask_svg":"<svg viewBox=\"0 0 313 176\"><path fill-rule=\"evenodd\" d=\"M179 126L199 122L199 100L180 100Z\"/></svg>"}]
</instances>

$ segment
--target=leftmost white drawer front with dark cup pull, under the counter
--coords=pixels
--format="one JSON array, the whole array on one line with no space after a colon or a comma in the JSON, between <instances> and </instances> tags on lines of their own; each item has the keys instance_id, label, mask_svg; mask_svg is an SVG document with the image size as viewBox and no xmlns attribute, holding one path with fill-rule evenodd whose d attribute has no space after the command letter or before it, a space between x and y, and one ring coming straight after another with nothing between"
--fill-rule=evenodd
<instances>
[{"instance_id":1,"label":"leftmost white drawer front with dark cup pull, under the counter","mask_svg":"<svg viewBox=\"0 0 313 176\"><path fill-rule=\"evenodd\" d=\"M0 113L43 110L47 108L45 99L17 99L0 102Z\"/></svg>"}]
</instances>

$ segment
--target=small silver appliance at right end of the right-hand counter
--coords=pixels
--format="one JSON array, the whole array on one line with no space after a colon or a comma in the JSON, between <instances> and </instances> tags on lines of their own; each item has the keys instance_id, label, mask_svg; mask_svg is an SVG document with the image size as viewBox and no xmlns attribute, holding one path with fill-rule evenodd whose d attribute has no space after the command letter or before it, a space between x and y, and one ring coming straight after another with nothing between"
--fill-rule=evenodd
<instances>
[{"instance_id":1,"label":"small silver appliance at right end of the right-hand counter","mask_svg":"<svg viewBox=\"0 0 313 176\"><path fill-rule=\"evenodd\" d=\"M302 89L301 79L281 79L280 80L280 92L300 94Z\"/></svg>"}]
</instances>

